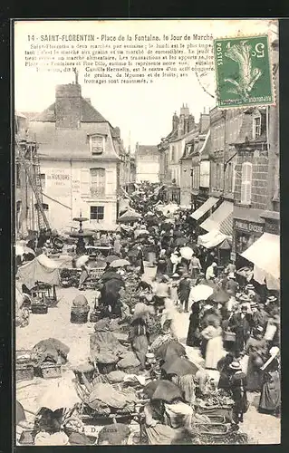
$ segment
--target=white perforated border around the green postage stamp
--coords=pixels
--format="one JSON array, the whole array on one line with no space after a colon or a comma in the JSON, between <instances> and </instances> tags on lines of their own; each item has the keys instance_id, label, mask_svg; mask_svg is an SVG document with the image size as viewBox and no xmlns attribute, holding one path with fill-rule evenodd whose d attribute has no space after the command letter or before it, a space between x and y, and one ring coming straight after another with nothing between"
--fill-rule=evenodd
<instances>
[{"instance_id":1,"label":"white perforated border around the green postage stamp","mask_svg":"<svg viewBox=\"0 0 289 453\"><path fill-rule=\"evenodd\" d=\"M240 105L234 105L234 106L219 106L218 105L218 101L217 101L217 63L216 63L216 54L215 54L215 42L216 41L219 41L219 40L222 40L222 39L246 39L246 38L257 38L259 36L266 36L267 39L268 39L268 58L269 58L269 69L270 69L270 80L271 80L271 90L272 90L272 96L273 96L273 102L270 102L270 103L265 103L265 104L262 104L262 103L258 103L258 104L240 104ZM218 36L217 38L214 38L213 39L213 52L214 52L214 66L215 66L215 80L216 80L216 87L215 87L215 95L216 95L216 104L217 104L217 109L220 110L220 111L225 111L225 110L236 110L236 109L239 109L239 110L244 110L244 109L249 109L250 107L255 107L255 108L259 108L259 109L264 109L265 107L270 107L270 106L273 106L273 107L276 107L276 88L275 88L275 75L274 75L274 72L273 72L273 59L272 59L272 43L275 41L275 40L278 40L278 43L279 43L279 29L278 29L278 34L277 34L277 37L275 37L275 39L273 39L273 36L272 36L272 31L271 30L268 30L267 33L258 33L258 34L236 34L234 36L232 35L223 35L223 36ZM279 83L279 80L277 81L277 83Z\"/></svg>"}]
</instances>

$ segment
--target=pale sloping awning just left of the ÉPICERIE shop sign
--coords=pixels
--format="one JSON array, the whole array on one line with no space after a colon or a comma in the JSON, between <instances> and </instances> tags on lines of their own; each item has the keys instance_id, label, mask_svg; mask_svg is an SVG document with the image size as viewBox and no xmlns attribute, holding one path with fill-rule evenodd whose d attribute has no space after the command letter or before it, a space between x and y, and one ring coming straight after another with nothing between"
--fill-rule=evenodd
<instances>
[{"instance_id":1,"label":"pale sloping awning just left of the \u00c9PICERIE shop sign","mask_svg":"<svg viewBox=\"0 0 289 453\"><path fill-rule=\"evenodd\" d=\"M200 226L207 231L218 230L226 236L232 236L233 208L233 203L230 201L223 201L216 211Z\"/></svg>"}]
</instances>

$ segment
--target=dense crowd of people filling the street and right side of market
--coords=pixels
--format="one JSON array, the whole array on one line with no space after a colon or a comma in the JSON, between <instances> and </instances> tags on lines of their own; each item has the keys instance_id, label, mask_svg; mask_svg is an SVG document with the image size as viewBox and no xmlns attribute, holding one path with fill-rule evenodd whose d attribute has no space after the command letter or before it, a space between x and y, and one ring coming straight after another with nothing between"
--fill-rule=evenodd
<instances>
[{"instance_id":1,"label":"dense crowd of people filling the street and right side of market","mask_svg":"<svg viewBox=\"0 0 289 453\"><path fill-rule=\"evenodd\" d=\"M130 197L136 219L120 224L115 233L102 235L102 241L111 246L111 255L122 263L111 268L108 256L96 284L94 310L99 320L117 320L119 325L129 326L128 342L140 362L140 373L148 371L149 357L158 357L166 346L165 353L159 355L162 360L151 361L149 370L155 380L172 382L181 390L173 405L179 409L185 403L185 411L179 409L183 415L191 415L188 407L193 407L197 397L218 390L234 400L236 425L243 422L248 410L247 392L260 393L259 411L279 416L278 295L266 294L264 298L252 274L247 281L238 278L233 262L227 260L220 266L217 250L197 246L188 209L164 206L158 194L148 185L139 188ZM153 278L146 275L145 265L156 268ZM83 264L80 290L85 290L90 272ZM189 326L179 338L179 316L185 316L181 313L189 313ZM181 344L183 337L187 351ZM189 348L199 351L203 366L181 376L176 371L164 372L172 359L188 360ZM211 371L218 371L215 388ZM150 399L145 405L149 443L176 439L176 429L172 431L165 422L168 410L173 409L167 407L166 411L165 400ZM184 420L183 428L187 429L186 417Z\"/></svg>"}]
</instances>

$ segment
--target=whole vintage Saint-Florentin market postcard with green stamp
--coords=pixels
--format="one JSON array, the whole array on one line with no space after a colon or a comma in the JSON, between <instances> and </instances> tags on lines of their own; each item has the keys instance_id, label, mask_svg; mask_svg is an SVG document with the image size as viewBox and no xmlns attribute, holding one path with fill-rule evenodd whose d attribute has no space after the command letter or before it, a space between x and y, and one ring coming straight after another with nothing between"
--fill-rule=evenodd
<instances>
[{"instance_id":1,"label":"whole vintage Saint-Florentin market postcard with green stamp","mask_svg":"<svg viewBox=\"0 0 289 453\"><path fill-rule=\"evenodd\" d=\"M278 38L14 21L15 445L280 443Z\"/></svg>"}]
</instances>

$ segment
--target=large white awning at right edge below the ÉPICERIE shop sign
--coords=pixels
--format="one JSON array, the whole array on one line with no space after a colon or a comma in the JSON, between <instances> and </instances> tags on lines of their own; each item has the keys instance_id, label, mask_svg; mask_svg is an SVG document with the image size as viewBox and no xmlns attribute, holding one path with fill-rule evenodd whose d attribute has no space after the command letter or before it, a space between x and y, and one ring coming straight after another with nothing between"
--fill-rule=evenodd
<instances>
[{"instance_id":1,"label":"large white awning at right edge below the \u00c9PICERIE shop sign","mask_svg":"<svg viewBox=\"0 0 289 453\"><path fill-rule=\"evenodd\" d=\"M276 280L280 278L280 236L264 233L241 256Z\"/></svg>"}]
</instances>

